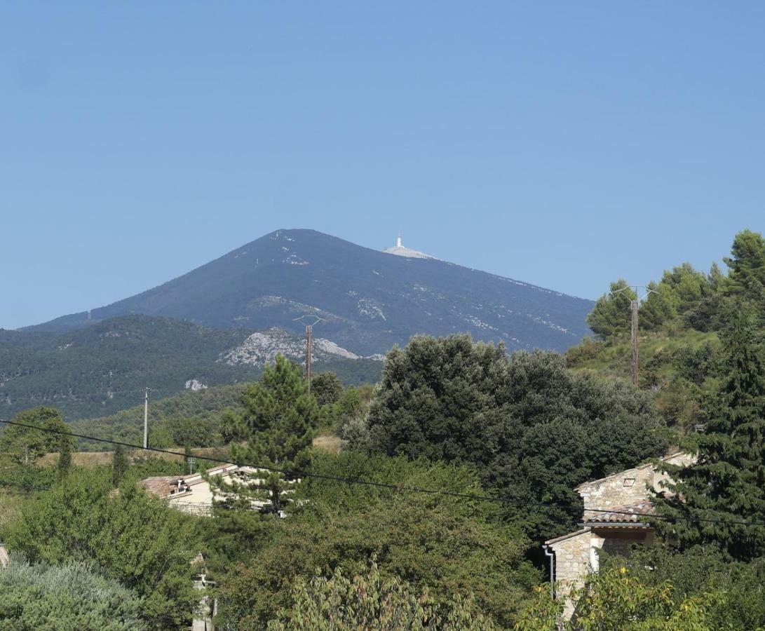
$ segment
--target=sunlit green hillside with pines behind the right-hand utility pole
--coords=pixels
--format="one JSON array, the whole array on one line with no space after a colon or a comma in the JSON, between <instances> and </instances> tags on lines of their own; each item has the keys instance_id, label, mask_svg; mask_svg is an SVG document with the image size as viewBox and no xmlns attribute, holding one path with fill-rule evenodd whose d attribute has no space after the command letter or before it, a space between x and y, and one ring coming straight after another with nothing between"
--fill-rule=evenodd
<instances>
[{"instance_id":1,"label":"sunlit green hillside with pines behind the right-hand utility pole","mask_svg":"<svg viewBox=\"0 0 765 631\"><path fill-rule=\"evenodd\" d=\"M681 433L708 420L708 398L725 367L720 335L746 315L765 330L765 241L745 230L723 258L702 272L682 263L641 289L640 389ZM725 271L728 273L726 274ZM627 282L611 283L588 316L594 338L565 353L569 368L601 379L630 379L630 300Z\"/></svg>"}]
</instances>

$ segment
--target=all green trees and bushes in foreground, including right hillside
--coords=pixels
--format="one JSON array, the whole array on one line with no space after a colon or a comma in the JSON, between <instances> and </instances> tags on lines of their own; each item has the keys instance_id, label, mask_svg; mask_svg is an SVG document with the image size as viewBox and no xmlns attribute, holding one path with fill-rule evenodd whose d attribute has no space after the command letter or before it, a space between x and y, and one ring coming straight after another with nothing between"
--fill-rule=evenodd
<instances>
[{"instance_id":1,"label":"all green trees and bushes in foreground, including right hillside","mask_svg":"<svg viewBox=\"0 0 765 631\"><path fill-rule=\"evenodd\" d=\"M215 445L272 469L220 483L213 518L139 483L182 475L180 460L120 449L85 470L70 439L44 431L67 428L57 410L25 411L34 427L0 439L0 540L14 555L0 620L177 629L203 562L223 629L763 629L765 241L741 233L726 264L727 276L685 264L651 285L638 388L620 281L591 315L597 339L565 357L419 336L374 387L324 372L309 395L278 356L258 382L155 402L153 444ZM140 418L98 431L137 441ZM318 431L340 452L312 448ZM675 494L655 499L656 545L603 553L562 623L539 541L577 527L579 483L670 448L698 460L666 466Z\"/></svg>"}]
</instances>

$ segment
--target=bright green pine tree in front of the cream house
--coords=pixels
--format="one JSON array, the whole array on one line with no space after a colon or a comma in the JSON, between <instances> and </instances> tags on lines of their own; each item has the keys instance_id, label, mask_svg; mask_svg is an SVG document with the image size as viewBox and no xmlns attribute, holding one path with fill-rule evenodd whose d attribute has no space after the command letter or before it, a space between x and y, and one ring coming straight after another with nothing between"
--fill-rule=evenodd
<instances>
[{"instance_id":1,"label":"bright green pine tree in front of the cream house","mask_svg":"<svg viewBox=\"0 0 765 631\"><path fill-rule=\"evenodd\" d=\"M311 439L319 419L316 399L308 394L308 385L300 367L283 355L274 366L265 366L258 382L247 385L242 396L243 410L229 411L228 424L233 434L246 444L232 444L232 462L269 467L243 475L243 480L213 485L239 500L266 500L278 513L288 503L285 492L293 490L301 470L310 463Z\"/></svg>"}]
</instances>

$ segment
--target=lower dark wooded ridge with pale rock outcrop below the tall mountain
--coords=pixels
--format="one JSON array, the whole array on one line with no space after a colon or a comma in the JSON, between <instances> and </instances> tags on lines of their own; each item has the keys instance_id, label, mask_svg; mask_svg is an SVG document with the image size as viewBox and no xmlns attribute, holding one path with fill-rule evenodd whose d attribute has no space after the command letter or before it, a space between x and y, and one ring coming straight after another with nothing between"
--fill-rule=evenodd
<instances>
[{"instance_id":1,"label":"lower dark wooded ridge with pale rock outcrop below the tall mountain","mask_svg":"<svg viewBox=\"0 0 765 631\"><path fill-rule=\"evenodd\" d=\"M67 420L112 415L151 398L252 381L282 353L299 363L304 341L282 330L213 329L183 320L113 317L66 333L0 330L0 418L37 405ZM348 383L376 381L382 362L317 338L315 371Z\"/></svg>"}]
</instances>

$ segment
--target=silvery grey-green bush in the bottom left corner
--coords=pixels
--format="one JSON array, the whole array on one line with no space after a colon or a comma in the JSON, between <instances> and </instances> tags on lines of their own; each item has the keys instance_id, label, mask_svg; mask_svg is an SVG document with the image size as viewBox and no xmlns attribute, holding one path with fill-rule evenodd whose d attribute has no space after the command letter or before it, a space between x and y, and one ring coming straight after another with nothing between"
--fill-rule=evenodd
<instances>
[{"instance_id":1,"label":"silvery grey-green bush in the bottom left corner","mask_svg":"<svg viewBox=\"0 0 765 631\"><path fill-rule=\"evenodd\" d=\"M90 564L29 564L11 556L0 568L3 629L142 631L142 599L93 570Z\"/></svg>"}]
</instances>

